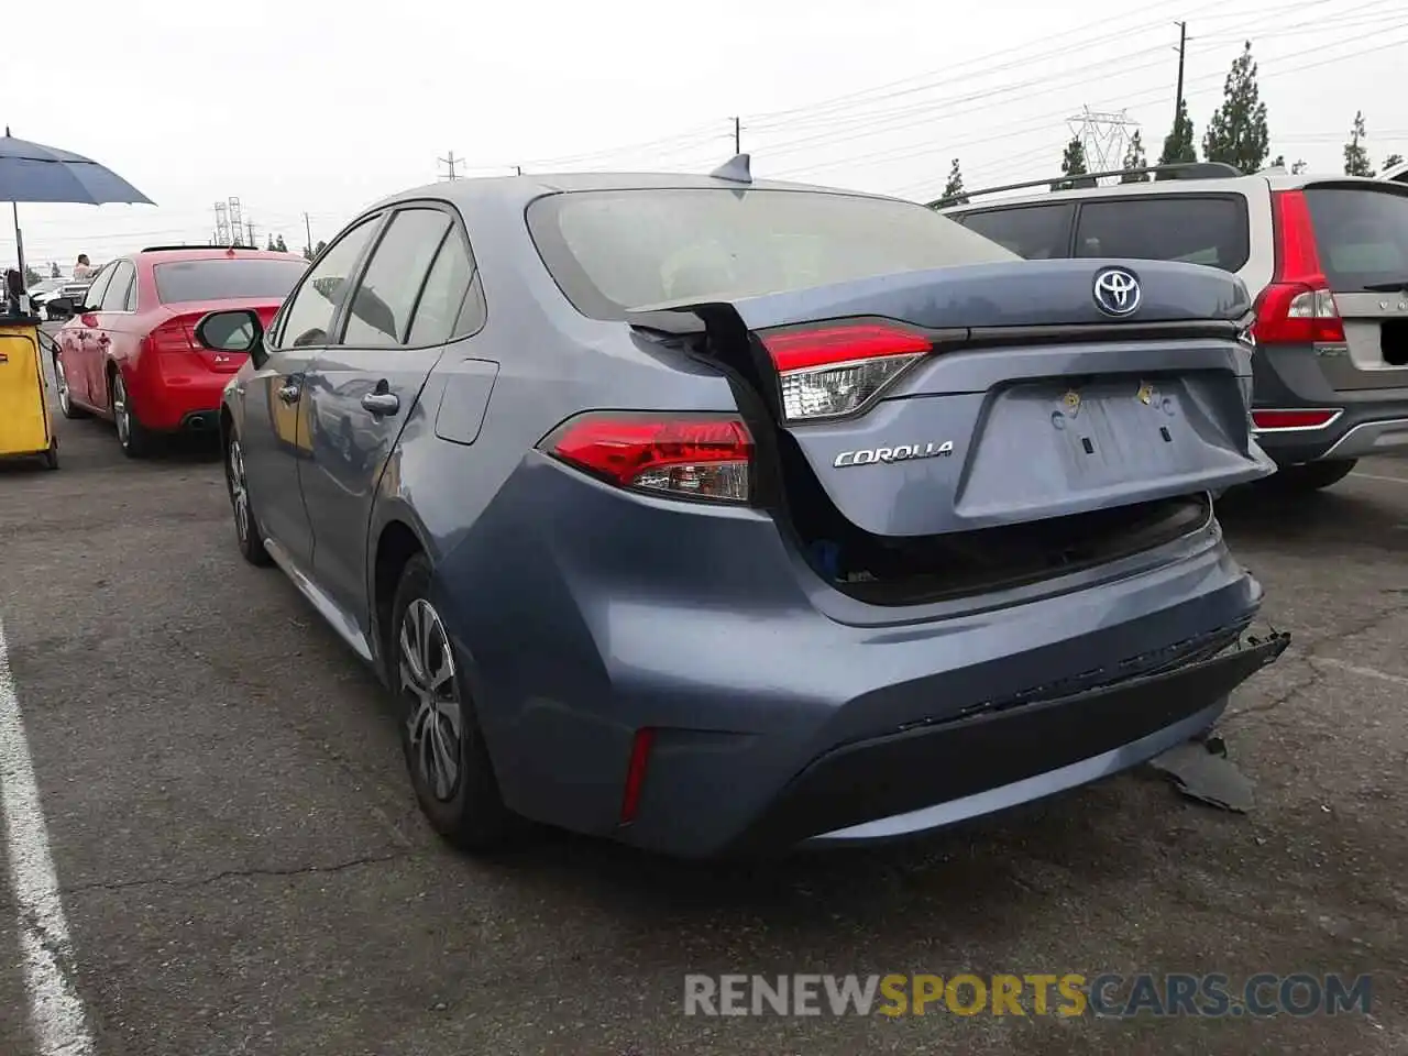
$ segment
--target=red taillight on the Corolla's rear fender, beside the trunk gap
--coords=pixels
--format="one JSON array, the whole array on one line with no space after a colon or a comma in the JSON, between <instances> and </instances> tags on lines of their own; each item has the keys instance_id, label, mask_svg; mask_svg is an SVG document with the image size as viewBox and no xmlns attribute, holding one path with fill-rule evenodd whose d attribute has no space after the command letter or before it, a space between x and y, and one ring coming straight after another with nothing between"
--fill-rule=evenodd
<instances>
[{"instance_id":1,"label":"red taillight on the Corolla's rear fender, beside the trunk gap","mask_svg":"<svg viewBox=\"0 0 1408 1056\"><path fill-rule=\"evenodd\" d=\"M725 503L749 498L753 436L735 415L590 413L539 446L618 487Z\"/></svg>"}]
</instances>

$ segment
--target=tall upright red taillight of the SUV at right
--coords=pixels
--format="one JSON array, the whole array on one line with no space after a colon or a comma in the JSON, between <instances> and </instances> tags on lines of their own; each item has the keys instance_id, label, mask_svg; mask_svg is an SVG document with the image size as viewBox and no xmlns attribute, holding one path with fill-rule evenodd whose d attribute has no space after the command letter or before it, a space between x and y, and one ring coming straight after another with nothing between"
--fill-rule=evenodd
<instances>
[{"instance_id":1,"label":"tall upright red taillight of the SUV at right","mask_svg":"<svg viewBox=\"0 0 1408 1056\"><path fill-rule=\"evenodd\" d=\"M1259 345L1343 345L1345 324L1331 293L1305 194L1271 193L1276 275L1256 301Z\"/></svg>"}]
</instances>

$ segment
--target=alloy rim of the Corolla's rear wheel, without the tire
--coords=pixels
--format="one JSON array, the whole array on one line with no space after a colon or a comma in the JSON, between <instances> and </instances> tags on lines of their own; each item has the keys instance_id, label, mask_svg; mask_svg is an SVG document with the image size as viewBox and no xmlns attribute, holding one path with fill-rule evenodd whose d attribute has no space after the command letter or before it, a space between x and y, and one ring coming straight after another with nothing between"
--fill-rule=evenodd
<instances>
[{"instance_id":1,"label":"alloy rim of the Corolla's rear wheel, without the tire","mask_svg":"<svg viewBox=\"0 0 1408 1056\"><path fill-rule=\"evenodd\" d=\"M425 790L449 803L460 781L463 708L445 625L425 598L406 607L398 646L413 765Z\"/></svg>"}]
</instances>

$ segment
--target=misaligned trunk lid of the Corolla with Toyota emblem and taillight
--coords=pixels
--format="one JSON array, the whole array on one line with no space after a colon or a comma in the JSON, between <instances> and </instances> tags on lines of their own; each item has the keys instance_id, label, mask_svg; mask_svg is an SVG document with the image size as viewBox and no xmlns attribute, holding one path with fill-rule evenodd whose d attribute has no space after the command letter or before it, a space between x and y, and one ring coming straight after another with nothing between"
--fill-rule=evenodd
<instances>
[{"instance_id":1,"label":"misaligned trunk lid of the Corolla with Toyota emblem and taillight","mask_svg":"<svg viewBox=\"0 0 1408 1056\"><path fill-rule=\"evenodd\" d=\"M850 524L921 536L1267 476L1247 429L1249 313L1240 280L1215 269L1081 259L658 304L631 318L703 328L710 355L759 389L780 445L800 456L791 463Z\"/></svg>"}]
</instances>

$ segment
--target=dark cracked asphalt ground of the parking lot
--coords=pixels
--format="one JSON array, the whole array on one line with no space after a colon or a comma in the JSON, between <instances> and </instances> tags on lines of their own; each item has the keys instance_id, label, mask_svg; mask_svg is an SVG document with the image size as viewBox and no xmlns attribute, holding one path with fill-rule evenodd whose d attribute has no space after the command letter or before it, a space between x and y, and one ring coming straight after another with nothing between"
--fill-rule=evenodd
<instances>
[{"instance_id":1,"label":"dark cracked asphalt ground of the parking lot","mask_svg":"<svg viewBox=\"0 0 1408 1056\"><path fill-rule=\"evenodd\" d=\"M372 677L239 560L214 453L59 428L58 473L0 469L0 620L100 1056L1408 1052L1408 460L1221 505L1294 635L1222 724L1249 815L1140 772L919 843L697 866L446 849ZM7 877L0 1053L38 1056L15 915ZM1373 973L1374 1008L681 1015L686 973L964 970Z\"/></svg>"}]
</instances>

